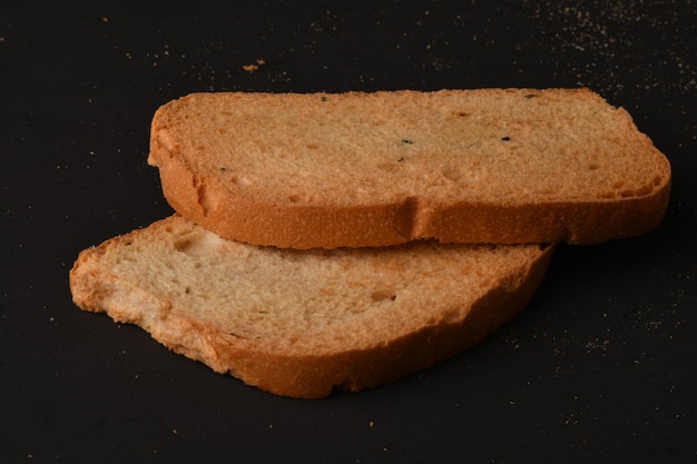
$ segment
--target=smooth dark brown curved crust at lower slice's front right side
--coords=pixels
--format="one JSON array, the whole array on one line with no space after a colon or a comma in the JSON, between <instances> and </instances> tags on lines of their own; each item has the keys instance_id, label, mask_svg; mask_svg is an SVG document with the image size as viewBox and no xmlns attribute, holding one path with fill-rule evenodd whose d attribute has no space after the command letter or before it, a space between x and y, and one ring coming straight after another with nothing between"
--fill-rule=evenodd
<instances>
[{"instance_id":1,"label":"smooth dark brown curved crust at lower slice's front right side","mask_svg":"<svg viewBox=\"0 0 697 464\"><path fill-rule=\"evenodd\" d=\"M233 375L264 391L298 398L321 398L334 391L360 392L423 371L470 348L522 310L541 283L552 249L521 276L520 286L503 283L491 288L465 317L448 324L420 327L413 333L371 349L340 352L320 357L288 357L278 353L227 349L220 344L220 366L238 365ZM220 369L219 372L225 372Z\"/></svg>"}]
</instances>

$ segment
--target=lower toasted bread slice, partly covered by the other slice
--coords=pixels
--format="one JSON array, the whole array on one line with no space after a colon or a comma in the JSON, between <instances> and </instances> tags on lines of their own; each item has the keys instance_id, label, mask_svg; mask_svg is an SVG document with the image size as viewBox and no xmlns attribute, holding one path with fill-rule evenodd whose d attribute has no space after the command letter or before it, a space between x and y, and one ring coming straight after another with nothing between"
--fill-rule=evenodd
<instances>
[{"instance_id":1,"label":"lower toasted bread slice, partly covered by the other slice","mask_svg":"<svg viewBox=\"0 0 697 464\"><path fill-rule=\"evenodd\" d=\"M553 247L295 250L180 216L84 250L75 303L134 323L218 373L294 397L360 391L483 339L528 304Z\"/></svg>"}]
</instances>

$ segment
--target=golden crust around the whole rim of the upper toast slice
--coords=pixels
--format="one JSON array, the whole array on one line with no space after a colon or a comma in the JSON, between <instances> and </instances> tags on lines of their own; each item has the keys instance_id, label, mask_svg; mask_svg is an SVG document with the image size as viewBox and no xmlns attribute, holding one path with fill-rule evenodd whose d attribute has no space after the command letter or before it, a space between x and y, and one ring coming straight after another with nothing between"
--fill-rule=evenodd
<instances>
[{"instance_id":1,"label":"golden crust around the whole rim of the upper toast slice","mask_svg":"<svg viewBox=\"0 0 697 464\"><path fill-rule=\"evenodd\" d=\"M514 91L526 92L523 89ZM548 92L599 99L585 89ZM413 92L404 97L384 93L385 98L413 98ZM360 93L355 96L360 97ZM187 98L196 98L196 95ZM267 201L240 194L222 176L197 170L189 160L194 155L176 141L178 129L170 116L175 108L170 105L160 108L151 128L149 162L160 170L165 197L189 220L222 237L256 245L298 249L363 247L421 238L443 243L588 245L654 229L661 221L669 200L668 160L621 109L617 110L618 125L626 126L622 134L632 135L627 144L635 152L646 154L646 162L655 165L655 177L647 179L645 191L615 198L603 198L602 192L598 192L591 198L540 196L520 201L503 196L469 199L467 192L452 198L431 198L413 191L387 203L337 205Z\"/></svg>"}]
</instances>

